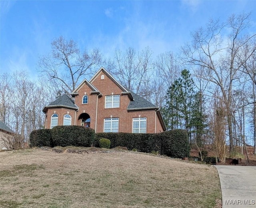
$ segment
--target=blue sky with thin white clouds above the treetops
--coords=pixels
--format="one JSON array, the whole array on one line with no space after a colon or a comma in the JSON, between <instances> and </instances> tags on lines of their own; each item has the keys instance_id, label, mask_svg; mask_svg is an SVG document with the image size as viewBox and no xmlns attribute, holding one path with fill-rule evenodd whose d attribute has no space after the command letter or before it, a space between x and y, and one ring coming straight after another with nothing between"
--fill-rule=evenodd
<instances>
[{"instance_id":1,"label":"blue sky with thin white clouds above the treetops","mask_svg":"<svg viewBox=\"0 0 256 208\"><path fill-rule=\"evenodd\" d=\"M28 70L36 76L39 55L50 52L60 35L81 49L100 48L111 57L115 49L137 51L149 46L154 56L177 52L190 32L209 18L252 12L256 32L256 1L4 1L0 0L0 73Z\"/></svg>"}]
</instances>

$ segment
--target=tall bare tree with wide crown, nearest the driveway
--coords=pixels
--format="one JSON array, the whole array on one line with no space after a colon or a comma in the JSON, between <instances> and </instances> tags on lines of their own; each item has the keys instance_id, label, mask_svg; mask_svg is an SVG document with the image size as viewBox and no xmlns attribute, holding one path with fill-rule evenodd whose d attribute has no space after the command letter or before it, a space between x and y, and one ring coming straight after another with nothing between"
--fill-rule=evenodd
<instances>
[{"instance_id":1,"label":"tall bare tree with wide crown, nearest the driveway","mask_svg":"<svg viewBox=\"0 0 256 208\"><path fill-rule=\"evenodd\" d=\"M249 23L250 14L245 13L230 16L225 24L220 24L218 20L210 20L206 28L200 28L192 33L192 44L182 47L184 61L205 68L204 78L216 84L222 92L231 152L234 147L230 106L232 88L238 80L238 70L244 64L239 58L240 52L243 46L256 36L244 35ZM230 31L228 36L225 36L226 29ZM254 50L255 48L252 48L248 57L252 56Z\"/></svg>"}]
</instances>

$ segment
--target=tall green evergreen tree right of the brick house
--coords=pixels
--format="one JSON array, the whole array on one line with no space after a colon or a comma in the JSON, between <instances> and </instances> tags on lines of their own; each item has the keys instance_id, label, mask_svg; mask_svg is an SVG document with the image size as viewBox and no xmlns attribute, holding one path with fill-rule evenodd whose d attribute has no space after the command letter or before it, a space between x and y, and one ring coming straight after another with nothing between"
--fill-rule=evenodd
<instances>
[{"instance_id":1,"label":"tall green evergreen tree right of the brick house","mask_svg":"<svg viewBox=\"0 0 256 208\"><path fill-rule=\"evenodd\" d=\"M181 76L174 81L166 94L166 106L162 108L164 121L168 130L186 129L190 142L192 133L196 142L202 143L205 127L202 93L195 92L195 84L189 70L182 70Z\"/></svg>"}]
</instances>

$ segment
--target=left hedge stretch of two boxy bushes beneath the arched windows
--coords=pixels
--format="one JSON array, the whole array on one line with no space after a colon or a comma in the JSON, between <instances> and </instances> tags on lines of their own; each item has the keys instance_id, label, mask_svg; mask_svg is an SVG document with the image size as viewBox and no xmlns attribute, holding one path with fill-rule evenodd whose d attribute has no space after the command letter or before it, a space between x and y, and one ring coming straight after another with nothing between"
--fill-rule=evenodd
<instances>
[{"instance_id":1,"label":"left hedge stretch of two boxy bushes beneath the arched windows","mask_svg":"<svg viewBox=\"0 0 256 208\"><path fill-rule=\"evenodd\" d=\"M30 145L34 146L84 146L90 147L95 132L83 126L55 126L52 129L39 129L30 133Z\"/></svg>"}]
</instances>

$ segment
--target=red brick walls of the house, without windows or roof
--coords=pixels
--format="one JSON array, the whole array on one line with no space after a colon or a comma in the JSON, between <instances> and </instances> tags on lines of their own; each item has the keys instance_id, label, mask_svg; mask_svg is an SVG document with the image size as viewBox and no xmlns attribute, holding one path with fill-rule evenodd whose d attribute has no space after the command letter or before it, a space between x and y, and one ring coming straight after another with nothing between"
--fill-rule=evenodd
<instances>
[{"instance_id":1,"label":"red brick walls of the house, without windows or roof","mask_svg":"<svg viewBox=\"0 0 256 208\"><path fill-rule=\"evenodd\" d=\"M101 75L104 74L104 80L101 80ZM98 74L92 81L92 84L102 93L102 97L98 98L98 112L97 112L97 126L96 125L96 103L97 95L90 94L93 91L87 83L83 84L78 90L78 96L75 97L75 104L79 107L76 112L76 125L80 125L78 120L80 114L84 111L90 115L91 122L90 127L95 129L96 132L103 132L104 130L104 118L119 118L119 132L132 132L132 118L147 118L147 133L162 132L162 126L156 116L155 110L142 110L142 111L127 111L127 107L130 103L130 99L127 95L122 95L122 90L112 79L110 79L104 72ZM84 93L88 96L88 104L82 104L82 97ZM120 95L120 107L119 108L105 108L105 97L108 95ZM50 128L50 118L54 113L54 110L58 114L58 125L63 125L63 116L70 112L72 116L72 125L74 125L75 110L68 110L65 108L60 109L48 109L47 111L47 125L46 128ZM156 125L155 125L156 119Z\"/></svg>"}]
</instances>

